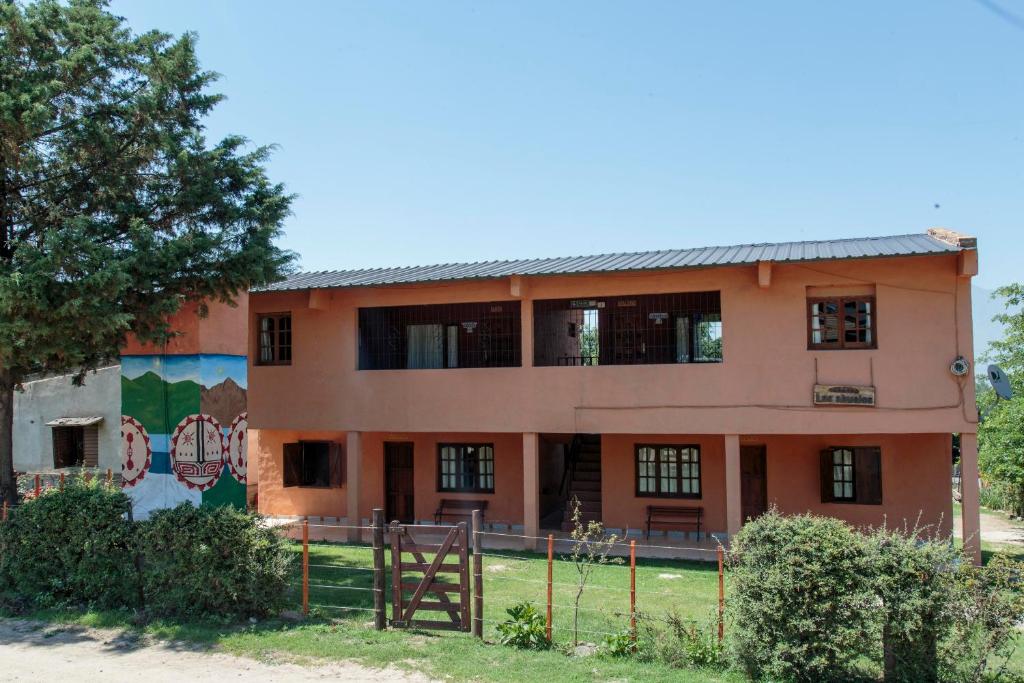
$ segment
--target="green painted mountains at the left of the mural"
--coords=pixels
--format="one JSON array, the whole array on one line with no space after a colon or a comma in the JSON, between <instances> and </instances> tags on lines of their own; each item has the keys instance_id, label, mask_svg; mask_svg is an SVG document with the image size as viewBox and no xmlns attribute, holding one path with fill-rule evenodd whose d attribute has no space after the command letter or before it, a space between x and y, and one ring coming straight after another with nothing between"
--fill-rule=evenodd
<instances>
[{"instance_id":1,"label":"green painted mountains at the left of the mural","mask_svg":"<svg viewBox=\"0 0 1024 683\"><path fill-rule=\"evenodd\" d=\"M200 412L200 386L191 380L165 382L153 372L134 379L122 375L121 411L151 434L169 434L181 420Z\"/></svg>"}]
</instances>

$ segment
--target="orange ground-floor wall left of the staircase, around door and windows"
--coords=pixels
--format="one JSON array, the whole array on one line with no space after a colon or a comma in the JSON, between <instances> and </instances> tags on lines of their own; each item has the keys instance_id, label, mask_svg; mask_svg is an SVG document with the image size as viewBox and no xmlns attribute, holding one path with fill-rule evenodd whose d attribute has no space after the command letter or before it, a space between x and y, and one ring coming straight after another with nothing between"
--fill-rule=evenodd
<instances>
[{"instance_id":1,"label":"orange ground-floor wall left of the staircase, around door and windows","mask_svg":"<svg viewBox=\"0 0 1024 683\"><path fill-rule=\"evenodd\" d=\"M345 517L347 482L340 488L282 486L283 446L300 440L337 441L344 447L345 432L250 430L250 453L259 461L259 511L273 515ZM369 519L374 508L384 507L386 441L413 443L415 511L418 520L432 520L442 498L461 498L486 500L488 522L522 523L522 435L507 433L365 433L359 492L360 517ZM437 444L459 442L495 444L494 494L450 494L437 490ZM347 458L348 454L345 455Z\"/></svg>"}]
</instances>

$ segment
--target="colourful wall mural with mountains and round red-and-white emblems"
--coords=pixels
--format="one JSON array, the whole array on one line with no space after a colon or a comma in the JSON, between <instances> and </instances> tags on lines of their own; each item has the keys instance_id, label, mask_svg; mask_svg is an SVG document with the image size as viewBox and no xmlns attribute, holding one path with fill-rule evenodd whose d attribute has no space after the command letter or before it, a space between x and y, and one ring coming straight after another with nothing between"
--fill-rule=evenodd
<instances>
[{"instance_id":1,"label":"colourful wall mural with mountains and round red-and-white emblems","mask_svg":"<svg viewBox=\"0 0 1024 683\"><path fill-rule=\"evenodd\" d=\"M121 357L122 485L136 518L246 506L246 356Z\"/></svg>"}]
</instances>

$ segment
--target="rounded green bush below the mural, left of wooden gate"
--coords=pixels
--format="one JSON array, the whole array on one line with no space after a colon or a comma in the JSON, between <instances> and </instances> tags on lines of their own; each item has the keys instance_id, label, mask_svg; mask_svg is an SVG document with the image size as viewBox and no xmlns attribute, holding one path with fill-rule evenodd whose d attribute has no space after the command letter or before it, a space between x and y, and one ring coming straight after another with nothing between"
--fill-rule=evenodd
<instances>
[{"instance_id":1,"label":"rounded green bush below the mural, left of wooden gate","mask_svg":"<svg viewBox=\"0 0 1024 683\"><path fill-rule=\"evenodd\" d=\"M284 606L294 558L255 515L183 503L155 512L142 523L139 543L152 613L239 617Z\"/></svg>"}]
</instances>

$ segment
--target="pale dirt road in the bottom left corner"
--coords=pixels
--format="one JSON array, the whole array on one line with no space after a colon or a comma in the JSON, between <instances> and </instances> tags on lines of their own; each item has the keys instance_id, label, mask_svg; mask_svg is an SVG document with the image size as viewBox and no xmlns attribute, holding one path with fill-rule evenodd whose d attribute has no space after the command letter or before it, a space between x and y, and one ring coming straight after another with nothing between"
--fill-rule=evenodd
<instances>
[{"instance_id":1,"label":"pale dirt road in the bottom left corner","mask_svg":"<svg viewBox=\"0 0 1024 683\"><path fill-rule=\"evenodd\" d=\"M150 642L120 631L0 620L0 680L76 683L236 683L260 681L397 681L429 679L351 663L301 667Z\"/></svg>"}]
</instances>

